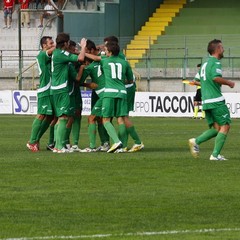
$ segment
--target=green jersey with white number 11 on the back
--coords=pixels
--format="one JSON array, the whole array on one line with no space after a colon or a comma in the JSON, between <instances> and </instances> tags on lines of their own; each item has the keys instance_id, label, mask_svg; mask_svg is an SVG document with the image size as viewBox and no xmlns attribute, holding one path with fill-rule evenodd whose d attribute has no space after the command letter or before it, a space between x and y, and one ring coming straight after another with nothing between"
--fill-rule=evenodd
<instances>
[{"instance_id":1,"label":"green jersey with white number 11 on the back","mask_svg":"<svg viewBox=\"0 0 240 240\"><path fill-rule=\"evenodd\" d=\"M104 97L127 98L125 79L133 80L129 63L119 56L110 56L101 60L105 76Z\"/></svg>"}]
</instances>

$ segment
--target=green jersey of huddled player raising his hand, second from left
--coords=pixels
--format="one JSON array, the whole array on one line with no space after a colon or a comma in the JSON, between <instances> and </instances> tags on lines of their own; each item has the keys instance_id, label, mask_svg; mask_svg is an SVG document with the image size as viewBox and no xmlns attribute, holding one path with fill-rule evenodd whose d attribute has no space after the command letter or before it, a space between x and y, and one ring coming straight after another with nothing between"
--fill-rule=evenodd
<instances>
[{"instance_id":1,"label":"green jersey of huddled player raising his hand, second from left","mask_svg":"<svg viewBox=\"0 0 240 240\"><path fill-rule=\"evenodd\" d=\"M69 62L77 62L78 56L68 51L55 49L52 56L52 94L69 92Z\"/></svg>"}]
</instances>

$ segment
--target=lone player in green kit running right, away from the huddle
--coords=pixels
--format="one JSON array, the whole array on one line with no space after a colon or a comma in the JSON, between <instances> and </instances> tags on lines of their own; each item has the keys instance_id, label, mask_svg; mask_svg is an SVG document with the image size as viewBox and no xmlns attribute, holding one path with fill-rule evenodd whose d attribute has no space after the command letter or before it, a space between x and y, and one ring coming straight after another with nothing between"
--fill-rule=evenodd
<instances>
[{"instance_id":1,"label":"lone player in green kit running right, away from the huddle","mask_svg":"<svg viewBox=\"0 0 240 240\"><path fill-rule=\"evenodd\" d=\"M220 152L230 129L231 118L221 93L221 86L227 85L233 88L235 83L222 78L222 65L219 60L223 58L223 52L221 40L214 39L209 42L208 53L210 57L200 69L202 104L210 129L196 138L189 139L190 151L195 158L199 156L198 145L216 137L210 160L227 160L220 155Z\"/></svg>"}]
</instances>

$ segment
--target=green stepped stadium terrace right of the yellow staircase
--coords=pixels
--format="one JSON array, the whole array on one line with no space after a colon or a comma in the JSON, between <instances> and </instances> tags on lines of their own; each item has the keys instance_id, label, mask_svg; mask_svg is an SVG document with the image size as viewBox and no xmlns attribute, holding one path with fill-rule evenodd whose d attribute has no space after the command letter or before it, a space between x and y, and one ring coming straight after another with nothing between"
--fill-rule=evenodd
<instances>
[{"instance_id":1,"label":"green stepped stadium terrace right of the yellow staircase","mask_svg":"<svg viewBox=\"0 0 240 240\"><path fill-rule=\"evenodd\" d=\"M164 58L174 57L176 60L169 59L168 64L172 62L170 66L173 66L174 62L177 62L175 67L183 67L183 60L177 58L183 59L187 56L197 58L191 60L193 63L188 63L189 67L195 67L197 61L207 56L207 44L214 38L222 40L225 58L239 57L239 12L240 1L236 0L188 1L173 18L172 23L165 27L164 35L158 36L142 57L151 59L148 66L159 68L168 67ZM223 60L226 61L229 59ZM237 60L233 61L232 66L237 66ZM135 67L145 68L146 60L140 60Z\"/></svg>"}]
</instances>

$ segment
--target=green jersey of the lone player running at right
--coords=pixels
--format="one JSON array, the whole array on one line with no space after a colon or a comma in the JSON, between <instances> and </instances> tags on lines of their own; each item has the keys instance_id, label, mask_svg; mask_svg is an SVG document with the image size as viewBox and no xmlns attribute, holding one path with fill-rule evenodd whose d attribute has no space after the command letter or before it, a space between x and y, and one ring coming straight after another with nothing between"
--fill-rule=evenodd
<instances>
[{"instance_id":1,"label":"green jersey of the lone player running at right","mask_svg":"<svg viewBox=\"0 0 240 240\"><path fill-rule=\"evenodd\" d=\"M225 104L221 85L214 81L216 77L222 77L222 65L217 58L211 56L200 69L203 110Z\"/></svg>"}]
</instances>

